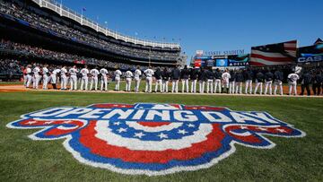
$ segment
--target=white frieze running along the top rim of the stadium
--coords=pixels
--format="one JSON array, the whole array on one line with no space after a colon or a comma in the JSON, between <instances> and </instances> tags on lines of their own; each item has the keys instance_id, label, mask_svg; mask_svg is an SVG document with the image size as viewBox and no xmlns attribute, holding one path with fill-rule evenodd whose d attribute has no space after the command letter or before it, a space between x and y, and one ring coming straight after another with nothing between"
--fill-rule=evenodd
<instances>
[{"instance_id":1,"label":"white frieze running along the top rim of the stadium","mask_svg":"<svg viewBox=\"0 0 323 182\"><path fill-rule=\"evenodd\" d=\"M134 37L122 35L118 33L115 30L109 30L108 28L105 28L104 26L100 25L98 22L93 22L92 20L84 17L82 14L76 13L73 10L63 6L63 4L58 4L54 0L32 0L36 4L39 4L40 7L48 8L61 16L68 17L75 22L79 22L80 24L84 26L88 26L92 28L93 30L99 31L106 36L113 37L114 39L121 39L125 42L131 42L134 44L140 44L143 46L151 46L151 47L159 47L159 48L180 48L178 43L166 43L166 42L154 42L150 40L144 40L144 39L136 39Z\"/></svg>"}]
</instances>

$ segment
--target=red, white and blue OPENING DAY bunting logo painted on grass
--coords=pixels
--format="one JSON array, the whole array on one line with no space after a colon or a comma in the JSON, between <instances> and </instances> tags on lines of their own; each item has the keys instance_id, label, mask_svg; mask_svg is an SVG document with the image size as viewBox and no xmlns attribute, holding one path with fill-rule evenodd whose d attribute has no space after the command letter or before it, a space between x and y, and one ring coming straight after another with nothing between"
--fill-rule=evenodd
<instances>
[{"instance_id":1,"label":"red, white and blue OPENING DAY bunting logo painted on grass","mask_svg":"<svg viewBox=\"0 0 323 182\"><path fill-rule=\"evenodd\" d=\"M150 103L47 108L7 126L42 128L30 138L65 139L65 149L93 167L149 176L209 168L234 144L273 148L266 135L305 135L266 112Z\"/></svg>"}]
</instances>

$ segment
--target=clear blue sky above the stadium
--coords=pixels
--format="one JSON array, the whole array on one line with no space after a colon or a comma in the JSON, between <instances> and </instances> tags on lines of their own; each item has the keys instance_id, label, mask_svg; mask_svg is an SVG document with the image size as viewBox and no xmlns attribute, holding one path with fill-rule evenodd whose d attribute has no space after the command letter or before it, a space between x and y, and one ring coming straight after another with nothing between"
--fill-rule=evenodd
<instances>
[{"instance_id":1,"label":"clear blue sky above the stadium","mask_svg":"<svg viewBox=\"0 0 323 182\"><path fill-rule=\"evenodd\" d=\"M60 2L60 0L58 1ZM323 0L62 0L111 30L180 43L188 61L196 50L224 51L297 39L323 39ZM164 40L165 38L165 40Z\"/></svg>"}]
</instances>

